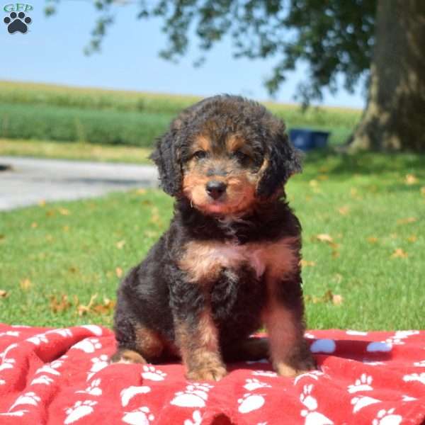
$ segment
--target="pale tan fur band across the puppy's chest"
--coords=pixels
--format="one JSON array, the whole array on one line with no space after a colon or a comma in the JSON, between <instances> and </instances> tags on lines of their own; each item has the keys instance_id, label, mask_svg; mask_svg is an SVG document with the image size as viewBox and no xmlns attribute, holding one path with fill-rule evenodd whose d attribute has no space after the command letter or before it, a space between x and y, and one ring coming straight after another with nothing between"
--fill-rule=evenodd
<instances>
[{"instance_id":1,"label":"pale tan fur band across the puppy's chest","mask_svg":"<svg viewBox=\"0 0 425 425\"><path fill-rule=\"evenodd\" d=\"M194 283L208 283L216 279L223 268L239 268L249 264L260 278L283 277L297 266L297 256L291 246L296 237L283 238L277 242L236 245L230 242L188 242L179 261Z\"/></svg>"}]
</instances>

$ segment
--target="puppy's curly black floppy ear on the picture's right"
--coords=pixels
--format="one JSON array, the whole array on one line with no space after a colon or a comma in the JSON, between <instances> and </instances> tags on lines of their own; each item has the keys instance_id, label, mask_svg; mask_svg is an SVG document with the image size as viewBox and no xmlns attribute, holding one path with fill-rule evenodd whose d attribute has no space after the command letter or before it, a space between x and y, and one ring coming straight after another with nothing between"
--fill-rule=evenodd
<instances>
[{"instance_id":1,"label":"puppy's curly black floppy ear on the picture's right","mask_svg":"<svg viewBox=\"0 0 425 425\"><path fill-rule=\"evenodd\" d=\"M290 176L301 172L302 154L295 149L288 140L285 132L278 132L276 137L268 145L261 177L257 185L256 194L261 198L268 198L276 193Z\"/></svg>"}]
</instances>

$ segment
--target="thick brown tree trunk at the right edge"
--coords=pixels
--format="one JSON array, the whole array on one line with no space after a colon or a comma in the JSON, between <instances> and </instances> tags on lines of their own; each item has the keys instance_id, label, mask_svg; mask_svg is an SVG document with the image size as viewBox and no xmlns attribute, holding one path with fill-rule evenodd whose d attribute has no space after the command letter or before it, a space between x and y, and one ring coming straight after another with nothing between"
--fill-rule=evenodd
<instances>
[{"instance_id":1,"label":"thick brown tree trunk at the right edge","mask_svg":"<svg viewBox=\"0 0 425 425\"><path fill-rule=\"evenodd\" d=\"M425 0L378 0L368 103L348 150L425 151Z\"/></svg>"}]
</instances>

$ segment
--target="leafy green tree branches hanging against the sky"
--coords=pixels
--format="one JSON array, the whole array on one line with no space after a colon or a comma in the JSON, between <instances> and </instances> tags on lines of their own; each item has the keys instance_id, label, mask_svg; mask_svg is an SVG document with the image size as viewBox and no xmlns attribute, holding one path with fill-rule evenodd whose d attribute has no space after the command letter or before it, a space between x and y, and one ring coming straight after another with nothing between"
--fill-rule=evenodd
<instances>
[{"instance_id":1,"label":"leafy green tree branches hanging against the sky","mask_svg":"<svg viewBox=\"0 0 425 425\"><path fill-rule=\"evenodd\" d=\"M47 15L60 0L47 0ZM98 19L87 53L101 49L101 42L125 0L96 0ZM162 19L167 45L159 54L178 60L195 42L205 52L223 37L232 38L234 57L271 57L275 65L264 84L275 94L285 74L299 62L308 72L297 87L297 98L307 105L322 100L325 88L352 92L367 76L373 55L376 0L152 0L139 1L137 18Z\"/></svg>"}]
</instances>

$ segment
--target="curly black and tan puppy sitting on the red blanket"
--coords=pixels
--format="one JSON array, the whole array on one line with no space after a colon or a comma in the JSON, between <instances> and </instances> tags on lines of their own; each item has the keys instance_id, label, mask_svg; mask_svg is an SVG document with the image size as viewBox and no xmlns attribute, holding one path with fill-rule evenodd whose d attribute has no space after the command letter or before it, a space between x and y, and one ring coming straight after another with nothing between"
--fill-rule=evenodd
<instances>
[{"instance_id":1,"label":"curly black and tan puppy sitting on the red blanket","mask_svg":"<svg viewBox=\"0 0 425 425\"><path fill-rule=\"evenodd\" d=\"M269 356L279 375L314 368L305 331L301 226L284 183L300 171L285 125L239 96L183 111L152 159L176 198L169 229L118 290L112 362L178 356L191 380ZM268 339L249 338L265 326Z\"/></svg>"}]
</instances>

